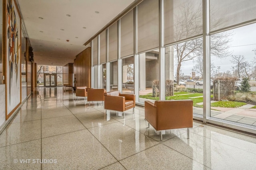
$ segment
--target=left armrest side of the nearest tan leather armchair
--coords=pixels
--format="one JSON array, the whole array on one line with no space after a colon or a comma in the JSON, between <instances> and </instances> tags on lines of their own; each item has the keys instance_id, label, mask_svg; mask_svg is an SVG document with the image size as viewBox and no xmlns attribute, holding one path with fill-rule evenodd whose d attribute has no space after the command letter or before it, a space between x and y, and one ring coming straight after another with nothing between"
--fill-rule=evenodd
<instances>
[{"instance_id":1,"label":"left armrest side of the nearest tan leather armchair","mask_svg":"<svg viewBox=\"0 0 256 170\"><path fill-rule=\"evenodd\" d=\"M156 130L157 129L157 112L156 106L150 101L145 101L145 119L150 123Z\"/></svg>"}]
</instances>

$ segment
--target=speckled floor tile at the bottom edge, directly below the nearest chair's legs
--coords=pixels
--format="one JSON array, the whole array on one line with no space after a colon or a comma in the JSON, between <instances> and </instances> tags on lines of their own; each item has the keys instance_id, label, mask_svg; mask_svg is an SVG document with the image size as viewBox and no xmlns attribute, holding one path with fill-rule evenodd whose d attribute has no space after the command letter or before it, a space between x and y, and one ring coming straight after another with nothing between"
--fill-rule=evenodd
<instances>
[{"instance_id":1,"label":"speckled floor tile at the bottom edge, directly below the nearest chair's legs","mask_svg":"<svg viewBox=\"0 0 256 170\"><path fill-rule=\"evenodd\" d=\"M134 154L120 163L127 170L210 170L162 144Z\"/></svg>"}]
</instances>

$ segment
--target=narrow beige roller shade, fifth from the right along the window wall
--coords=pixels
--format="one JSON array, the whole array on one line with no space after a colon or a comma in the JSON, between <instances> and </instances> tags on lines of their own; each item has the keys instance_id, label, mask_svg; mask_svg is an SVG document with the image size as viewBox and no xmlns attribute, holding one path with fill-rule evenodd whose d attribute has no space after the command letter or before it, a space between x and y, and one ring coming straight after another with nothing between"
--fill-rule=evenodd
<instances>
[{"instance_id":1,"label":"narrow beige roller shade, fifth from the right along the window wall","mask_svg":"<svg viewBox=\"0 0 256 170\"><path fill-rule=\"evenodd\" d=\"M108 61L117 60L117 22L108 28Z\"/></svg>"}]
</instances>

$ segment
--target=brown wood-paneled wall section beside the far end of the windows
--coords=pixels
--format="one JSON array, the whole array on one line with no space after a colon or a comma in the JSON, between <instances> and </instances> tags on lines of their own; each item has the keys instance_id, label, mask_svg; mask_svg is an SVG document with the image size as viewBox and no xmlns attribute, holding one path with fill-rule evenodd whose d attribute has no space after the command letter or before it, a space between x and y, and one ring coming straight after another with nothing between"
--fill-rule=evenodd
<instances>
[{"instance_id":1,"label":"brown wood-paneled wall section beside the far end of the windows","mask_svg":"<svg viewBox=\"0 0 256 170\"><path fill-rule=\"evenodd\" d=\"M77 87L91 87L91 47L76 56L74 60L74 78L76 78Z\"/></svg>"}]
</instances>

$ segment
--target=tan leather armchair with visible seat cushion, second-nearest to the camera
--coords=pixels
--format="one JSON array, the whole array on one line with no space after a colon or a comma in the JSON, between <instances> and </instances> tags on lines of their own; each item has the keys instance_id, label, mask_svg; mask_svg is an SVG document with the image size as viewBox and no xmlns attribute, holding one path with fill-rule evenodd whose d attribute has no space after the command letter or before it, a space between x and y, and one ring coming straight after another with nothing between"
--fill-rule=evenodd
<instances>
[{"instance_id":1,"label":"tan leather armchair with visible seat cushion, second-nearest to the camera","mask_svg":"<svg viewBox=\"0 0 256 170\"><path fill-rule=\"evenodd\" d=\"M112 91L104 93L104 97L104 108L106 110L121 111L124 113L124 111L133 108L134 113L134 94L120 94L120 91Z\"/></svg>"}]
</instances>

